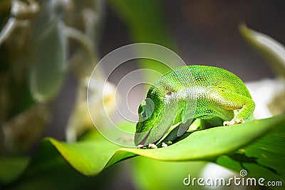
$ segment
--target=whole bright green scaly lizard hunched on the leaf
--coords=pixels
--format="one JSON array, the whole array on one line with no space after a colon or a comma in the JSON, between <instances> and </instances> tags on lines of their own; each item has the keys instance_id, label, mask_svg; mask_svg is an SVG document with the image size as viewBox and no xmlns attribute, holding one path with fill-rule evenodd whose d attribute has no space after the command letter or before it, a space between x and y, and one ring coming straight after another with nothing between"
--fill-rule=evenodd
<instances>
[{"instance_id":1,"label":"whole bright green scaly lizard hunched on the leaf","mask_svg":"<svg viewBox=\"0 0 285 190\"><path fill-rule=\"evenodd\" d=\"M138 148L175 140L200 119L202 128L240 124L253 119L254 101L244 82L214 66L181 66L153 84L138 108ZM162 146L167 146L163 143Z\"/></svg>"}]
</instances>

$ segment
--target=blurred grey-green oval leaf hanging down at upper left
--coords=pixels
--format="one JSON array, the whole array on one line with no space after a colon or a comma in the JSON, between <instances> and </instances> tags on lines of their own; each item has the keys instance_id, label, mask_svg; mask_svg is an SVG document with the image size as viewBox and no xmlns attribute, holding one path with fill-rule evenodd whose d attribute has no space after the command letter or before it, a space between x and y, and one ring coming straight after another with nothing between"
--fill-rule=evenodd
<instances>
[{"instance_id":1,"label":"blurred grey-green oval leaf hanging down at upper left","mask_svg":"<svg viewBox=\"0 0 285 190\"><path fill-rule=\"evenodd\" d=\"M29 58L29 87L33 99L41 102L56 96L66 73L66 39L62 33L63 26L58 21L61 15L56 15L56 10L49 9L50 4L51 1L46 1L41 5L46 9L41 10L33 22L33 41Z\"/></svg>"}]
</instances>

